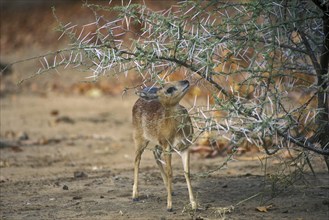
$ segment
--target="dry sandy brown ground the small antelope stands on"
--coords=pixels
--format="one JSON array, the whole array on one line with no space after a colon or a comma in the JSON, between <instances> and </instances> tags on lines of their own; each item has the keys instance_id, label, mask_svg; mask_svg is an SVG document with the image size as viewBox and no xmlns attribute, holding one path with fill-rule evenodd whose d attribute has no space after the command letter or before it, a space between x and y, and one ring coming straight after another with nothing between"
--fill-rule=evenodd
<instances>
[{"instance_id":1,"label":"dry sandy brown ground the small antelope stands on","mask_svg":"<svg viewBox=\"0 0 329 220\"><path fill-rule=\"evenodd\" d=\"M160 173L146 151L142 199L132 202L134 100L59 94L1 98L1 219L327 219L329 178L322 163L316 179L306 174L307 183L284 189L264 182L263 166L251 156L237 157L208 176L227 158L192 156L196 213L188 208L175 156L174 212L169 213ZM257 211L259 206L269 206L268 212Z\"/></svg>"}]
</instances>

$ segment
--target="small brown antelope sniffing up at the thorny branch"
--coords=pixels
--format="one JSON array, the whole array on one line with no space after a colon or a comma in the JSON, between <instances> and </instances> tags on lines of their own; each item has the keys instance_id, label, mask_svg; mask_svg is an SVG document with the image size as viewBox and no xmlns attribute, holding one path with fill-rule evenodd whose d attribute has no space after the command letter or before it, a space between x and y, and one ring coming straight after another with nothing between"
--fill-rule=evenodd
<instances>
[{"instance_id":1,"label":"small brown antelope sniffing up at the thorny branch","mask_svg":"<svg viewBox=\"0 0 329 220\"><path fill-rule=\"evenodd\" d=\"M132 195L134 201L138 200L138 170L141 156L148 143L153 142L156 144L153 151L154 158L168 193L167 210L172 211L171 153L173 151L182 158L191 206L193 209L197 208L190 181L188 149L193 136L193 127L187 110L179 105L189 86L187 80L176 81L167 83L162 88L147 87L137 93L140 98L132 111L136 146ZM161 160L162 153L164 153L164 162Z\"/></svg>"}]
</instances>

